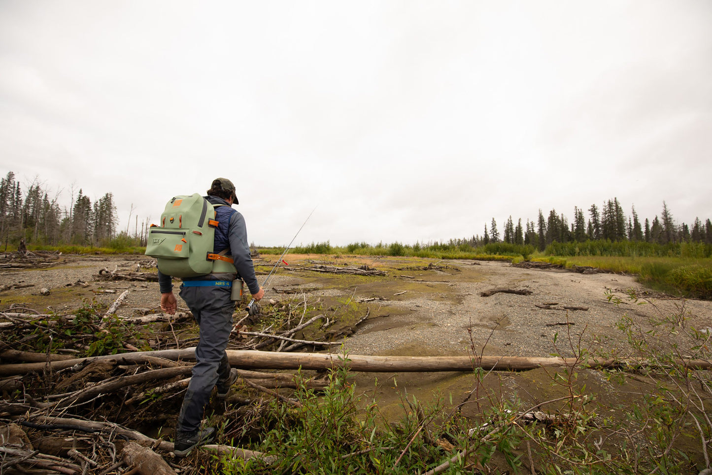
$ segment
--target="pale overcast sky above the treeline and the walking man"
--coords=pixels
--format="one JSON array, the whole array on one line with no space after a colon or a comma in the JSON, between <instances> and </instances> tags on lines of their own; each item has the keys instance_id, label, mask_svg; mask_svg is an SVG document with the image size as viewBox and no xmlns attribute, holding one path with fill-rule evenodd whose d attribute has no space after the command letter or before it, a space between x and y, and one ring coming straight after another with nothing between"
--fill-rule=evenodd
<instances>
[{"instance_id":1,"label":"pale overcast sky above the treeline and the walking man","mask_svg":"<svg viewBox=\"0 0 712 475\"><path fill-rule=\"evenodd\" d=\"M617 197L712 218L712 2L0 0L0 172L257 245L448 240Z\"/></svg>"}]
</instances>

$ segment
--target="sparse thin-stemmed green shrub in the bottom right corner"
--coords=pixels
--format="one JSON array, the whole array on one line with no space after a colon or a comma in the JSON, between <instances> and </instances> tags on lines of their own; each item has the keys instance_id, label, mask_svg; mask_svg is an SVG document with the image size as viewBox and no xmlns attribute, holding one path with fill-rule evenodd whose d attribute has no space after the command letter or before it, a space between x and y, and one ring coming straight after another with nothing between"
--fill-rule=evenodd
<instances>
[{"instance_id":1,"label":"sparse thin-stemmed green shrub in the bottom right corner","mask_svg":"<svg viewBox=\"0 0 712 475\"><path fill-rule=\"evenodd\" d=\"M698 436L701 443L698 453L703 454L706 469L710 469L708 446L712 421L708 405L712 377L695 369L696 361L712 359L710 335L689 325L684 300L670 312L653 300L639 298L633 291L627 299L651 306L655 315L647 322L625 315L619 322L619 329L632 349L631 357L645 362L638 372L654 385L654 391L642 394L642 404L624 412L627 424L622 431L644 452L635 454L636 463L652 472L685 471L691 466L691 441Z\"/></svg>"}]
</instances>

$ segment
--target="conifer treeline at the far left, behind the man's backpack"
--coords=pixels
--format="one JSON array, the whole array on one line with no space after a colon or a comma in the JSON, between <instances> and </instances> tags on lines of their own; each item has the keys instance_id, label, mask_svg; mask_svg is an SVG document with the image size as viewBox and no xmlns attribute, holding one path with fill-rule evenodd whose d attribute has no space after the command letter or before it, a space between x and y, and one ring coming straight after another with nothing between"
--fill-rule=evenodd
<instances>
[{"instance_id":1,"label":"conifer treeline at the far left, behind the man's backpack","mask_svg":"<svg viewBox=\"0 0 712 475\"><path fill-rule=\"evenodd\" d=\"M118 223L112 193L94 203L78 190L71 205L58 203L34 180L24 190L13 172L0 180L0 238L35 245L109 245Z\"/></svg>"}]
</instances>

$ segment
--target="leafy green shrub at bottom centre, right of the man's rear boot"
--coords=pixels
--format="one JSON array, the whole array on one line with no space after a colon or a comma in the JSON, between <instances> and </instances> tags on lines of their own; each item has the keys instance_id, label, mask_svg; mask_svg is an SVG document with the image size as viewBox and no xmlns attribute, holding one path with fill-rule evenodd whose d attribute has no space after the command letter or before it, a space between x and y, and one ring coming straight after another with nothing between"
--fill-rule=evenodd
<instances>
[{"instance_id":1,"label":"leafy green shrub at bottom centre, right of the man's rear boot","mask_svg":"<svg viewBox=\"0 0 712 475\"><path fill-rule=\"evenodd\" d=\"M382 422L377 404L355 392L346 363L328 374L320 392L306 389L298 377L291 402L274 401L261 416L266 429L256 449L277 455L276 462L223 458L230 474L412 474L434 464L441 448L427 424L439 413L411 398L396 424Z\"/></svg>"}]
</instances>

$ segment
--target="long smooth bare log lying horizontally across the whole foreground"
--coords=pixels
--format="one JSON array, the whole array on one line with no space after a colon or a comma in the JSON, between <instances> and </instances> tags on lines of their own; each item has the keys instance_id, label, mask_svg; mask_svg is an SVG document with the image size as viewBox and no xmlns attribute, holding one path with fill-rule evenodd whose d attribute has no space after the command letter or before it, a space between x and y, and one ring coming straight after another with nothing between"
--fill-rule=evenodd
<instances>
[{"instance_id":1,"label":"long smooth bare log lying horizontally across the whole foreground","mask_svg":"<svg viewBox=\"0 0 712 475\"><path fill-rule=\"evenodd\" d=\"M94 359L117 359L125 362L142 362L146 356L172 360L194 360L195 348L162 349L154 352L134 352L107 354ZM349 354L344 357L335 353L284 353L260 352L253 350L229 349L227 356L233 367L240 369L330 369L348 367L357 372L439 372L472 371L475 367L496 370L525 370L541 367L572 367L575 358L561 357L503 357L503 356L454 356L454 357L403 357L365 356ZM42 371L46 367L53 370L72 367L86 359L68 359L48 363L0 364L0 376L14 376L29 371ZM706 359L681 359L677 362L691 369L712 369L712 362ZM646 366L656 367L654 362L644 359L588 359L579 362L578 367L603 369L609 367ZM659 365L657 365L659 366Z\"/></svg>"}]
</instances>

